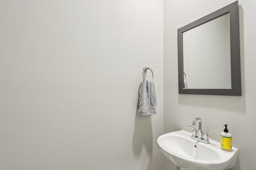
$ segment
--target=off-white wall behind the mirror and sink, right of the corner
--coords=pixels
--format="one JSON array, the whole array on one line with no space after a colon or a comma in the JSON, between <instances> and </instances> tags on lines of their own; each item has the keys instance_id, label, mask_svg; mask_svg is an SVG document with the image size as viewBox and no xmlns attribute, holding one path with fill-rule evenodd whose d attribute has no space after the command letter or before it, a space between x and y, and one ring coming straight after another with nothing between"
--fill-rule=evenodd
<instances>
[{"instance_id":1,"label":"off-white wall behind the mirror and sink, right of the corner","mask_svg":"<svg viewBox=\"0 0 256 170\"><path fill-rule=\"evenodd\" d=\"M186 130L196 117L202 129L220 140L224 124L238 148L232 170L253 170L256 163L256 1L239 0L242 96L178 94L177 29L214 12L234 0L164 0L164 133ZM196 123L196 126L198 124ZM164 159L164 169L178 170Z\"/></svg>"}]
</instances>

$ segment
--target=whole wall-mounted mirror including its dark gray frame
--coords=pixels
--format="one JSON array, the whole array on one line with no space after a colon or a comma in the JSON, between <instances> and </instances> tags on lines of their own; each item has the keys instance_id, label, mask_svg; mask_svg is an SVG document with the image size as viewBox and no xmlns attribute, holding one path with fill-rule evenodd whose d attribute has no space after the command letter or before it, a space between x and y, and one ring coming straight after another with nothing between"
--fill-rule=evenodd
<instances>
[{"instance_id":1,"label":"whole wall-mounted mirror including its dark gray frame","mask_svg":"<svg viewBox=\"0 0 256 170\"><path fill-rule=\"evenodd\" d=\"M178 29L179 94L241 96L238 1Z\"/></svg>"}]
</instances>

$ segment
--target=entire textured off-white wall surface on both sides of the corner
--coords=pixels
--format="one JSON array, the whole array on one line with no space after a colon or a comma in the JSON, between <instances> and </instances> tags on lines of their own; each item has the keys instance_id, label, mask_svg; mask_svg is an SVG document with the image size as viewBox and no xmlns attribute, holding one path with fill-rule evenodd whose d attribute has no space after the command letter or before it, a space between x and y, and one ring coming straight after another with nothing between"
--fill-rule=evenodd
<instances>
[{"instance_id":1,"label":"entire textured off-white wall surface on both sides of the corner","mask_svg":"<svg viewBox=\"0 0 256 170\"><path fill-rule=\"evenodd\" d=\"M163 122L195 117L216 141L227 123L233 170L254 169L254 0L239 1L242 96L178 94L177 29L232 2L0 0L0 169L161 170ZM158 115L136 114L144 66Z\"/></svg>"}]
</instances>

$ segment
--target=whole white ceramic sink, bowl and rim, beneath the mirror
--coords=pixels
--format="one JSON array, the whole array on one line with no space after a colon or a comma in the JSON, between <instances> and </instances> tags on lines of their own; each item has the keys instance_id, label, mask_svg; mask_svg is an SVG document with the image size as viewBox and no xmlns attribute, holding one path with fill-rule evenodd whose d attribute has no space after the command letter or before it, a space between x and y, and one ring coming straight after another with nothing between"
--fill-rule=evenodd
<instances>
[{"instance_id":1,"label":"whole white ceramic sink, bowl and rim, beneath the mirror","mask_svg":"<svg viewBox=\"0 0 256 170\"><path fill-rule=\"evenodd\" d=\"M238 150L231 152L220 149L220 143L210 140L205 144L191 138L192 133L175 131L161 135L157 143L164 155L180 170L226 170L234 167Z\"/></svg>"}]
</instances>

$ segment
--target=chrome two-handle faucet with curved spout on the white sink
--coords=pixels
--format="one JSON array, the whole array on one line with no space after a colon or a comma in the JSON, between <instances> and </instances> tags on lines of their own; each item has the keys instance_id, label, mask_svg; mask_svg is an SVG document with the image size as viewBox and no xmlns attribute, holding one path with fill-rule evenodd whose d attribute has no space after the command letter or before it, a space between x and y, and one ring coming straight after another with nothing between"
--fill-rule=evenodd
<instances>
[{"instance_id":1,"label":"chrome two-handle faucet with curved spout on the white sink","mask_svg":"<svg viewBox=\"0 0 256 170\"><path fill-rule=\"evenodd\" d=\"M193 127L193 126L196 125L196 121L198 121L198 123L199 123L198 134L196 134L196 127ZM193 126L188 126L188 127L191 127L191 128L194 129L191 138L195 139L196 141L200 141L200 142L209 144L210 142L209 142L208 134L207 133L210 133L210 134L214 134L214 133L210 132L210 131L204 130L204 136L202 136L202 120L201 120L201 118L200 117L195 118L193 120L192 125Z\"/></svg>"}]
</instances>

